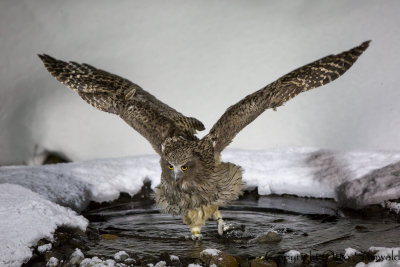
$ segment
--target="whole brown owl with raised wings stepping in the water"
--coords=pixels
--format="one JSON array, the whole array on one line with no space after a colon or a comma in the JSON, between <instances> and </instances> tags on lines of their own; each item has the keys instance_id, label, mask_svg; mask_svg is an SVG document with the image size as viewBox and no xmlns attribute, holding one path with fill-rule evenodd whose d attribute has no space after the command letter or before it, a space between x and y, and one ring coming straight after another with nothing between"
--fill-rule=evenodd
<instances>
[{"instance_id":1,"label":"whole brown owl with raised wings stepping in the water","mask_svg":"<svg viewBox=\"0 0 400 267\"><path fill-rule=\"evenodd\" d=\"M203 138L204 125L158 100L127 79L88 64L39 55L59 82L90 105L120 116L146 138L160 156L161 183L155 189L158 206L181 215L191 238L202 238L208 219L224 234L227 224L219 211L242 193L243 170L221 160L232 139L266 109L274 109L301 92L327 84L345 73L367 49L369 41L337 55L298 68L230 106Z\"/></svg>"}]
</instances>

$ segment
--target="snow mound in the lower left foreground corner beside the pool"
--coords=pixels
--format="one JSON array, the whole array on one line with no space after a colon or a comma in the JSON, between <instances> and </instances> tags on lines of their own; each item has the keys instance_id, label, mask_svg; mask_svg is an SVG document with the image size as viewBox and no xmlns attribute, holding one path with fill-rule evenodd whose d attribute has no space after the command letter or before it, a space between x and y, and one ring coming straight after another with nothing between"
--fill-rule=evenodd
<instances>
[{"instance_id":1,"label":"snow mound in the lower left foreground corner beside the pool","mask_svg":"<svg viewBox=\"0 0 400 267\"><path fill-rule=\"evenodd\" d=\"M86 229L88 222L27 188L0 184L0 266L20 266L41 238L52 239L59 226Z\"/></svg>"}]
</instances>

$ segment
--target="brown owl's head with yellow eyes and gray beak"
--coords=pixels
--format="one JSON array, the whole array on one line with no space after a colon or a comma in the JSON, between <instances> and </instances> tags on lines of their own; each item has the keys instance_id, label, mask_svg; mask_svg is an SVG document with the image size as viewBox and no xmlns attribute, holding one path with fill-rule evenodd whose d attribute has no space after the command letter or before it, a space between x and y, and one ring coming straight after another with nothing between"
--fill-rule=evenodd
<instances>
[{"instance_id":1,"label":"brown owl's head with yellow eyes and gray beak","mask_svg":"<svg viewBox=\"0 0 400 267\"><path fill-rule=\"evenodd\" d=\"M170 183L180 185L184 190L188 189L205 168L197 148L198 141L167 138L162 145L162 177Z\"/></svg>"}]
</instances>

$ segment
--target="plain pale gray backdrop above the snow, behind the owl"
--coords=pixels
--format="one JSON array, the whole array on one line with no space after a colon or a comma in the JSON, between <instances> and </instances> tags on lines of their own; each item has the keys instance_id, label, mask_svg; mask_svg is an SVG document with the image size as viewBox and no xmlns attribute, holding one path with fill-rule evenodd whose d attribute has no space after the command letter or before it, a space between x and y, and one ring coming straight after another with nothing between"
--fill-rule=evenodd
<instances>
[{"instance_id":1,"label":"plain pale gray backdrop above the snow, behind the owl","mask_svg":"<svg viewBox=\"0 0 400 267\"><path fill-rule=\"evenodd\" d=\"M399 150L398 14L399 1L1 1L0 164L35 144L74 160L154 153L37 53L124 76L210 129L245 95L368 39L343 77L265 112L231 147Z\"/></svg>"}]
</instances>

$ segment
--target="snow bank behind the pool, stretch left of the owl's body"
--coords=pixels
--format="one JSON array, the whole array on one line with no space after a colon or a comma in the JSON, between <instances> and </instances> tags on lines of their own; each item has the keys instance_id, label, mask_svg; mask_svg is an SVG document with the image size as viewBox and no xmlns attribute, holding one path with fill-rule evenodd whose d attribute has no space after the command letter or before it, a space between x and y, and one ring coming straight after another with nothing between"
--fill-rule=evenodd
<instances>
[{"instance_id":1,"label":"snow bank behind the pool, stretch left of the owl's body","mask_svg":"<svg viewBox=\"0 0 400 267\"><path fill-rule=\"evenodd\" d=\"M19 184L45 198L75 210L90 201L110 201L120 192L135 194L146 177L160 181L158 157L100 159L43 166L0 167L0 183Z\"/></svg>"}]
</instances>

